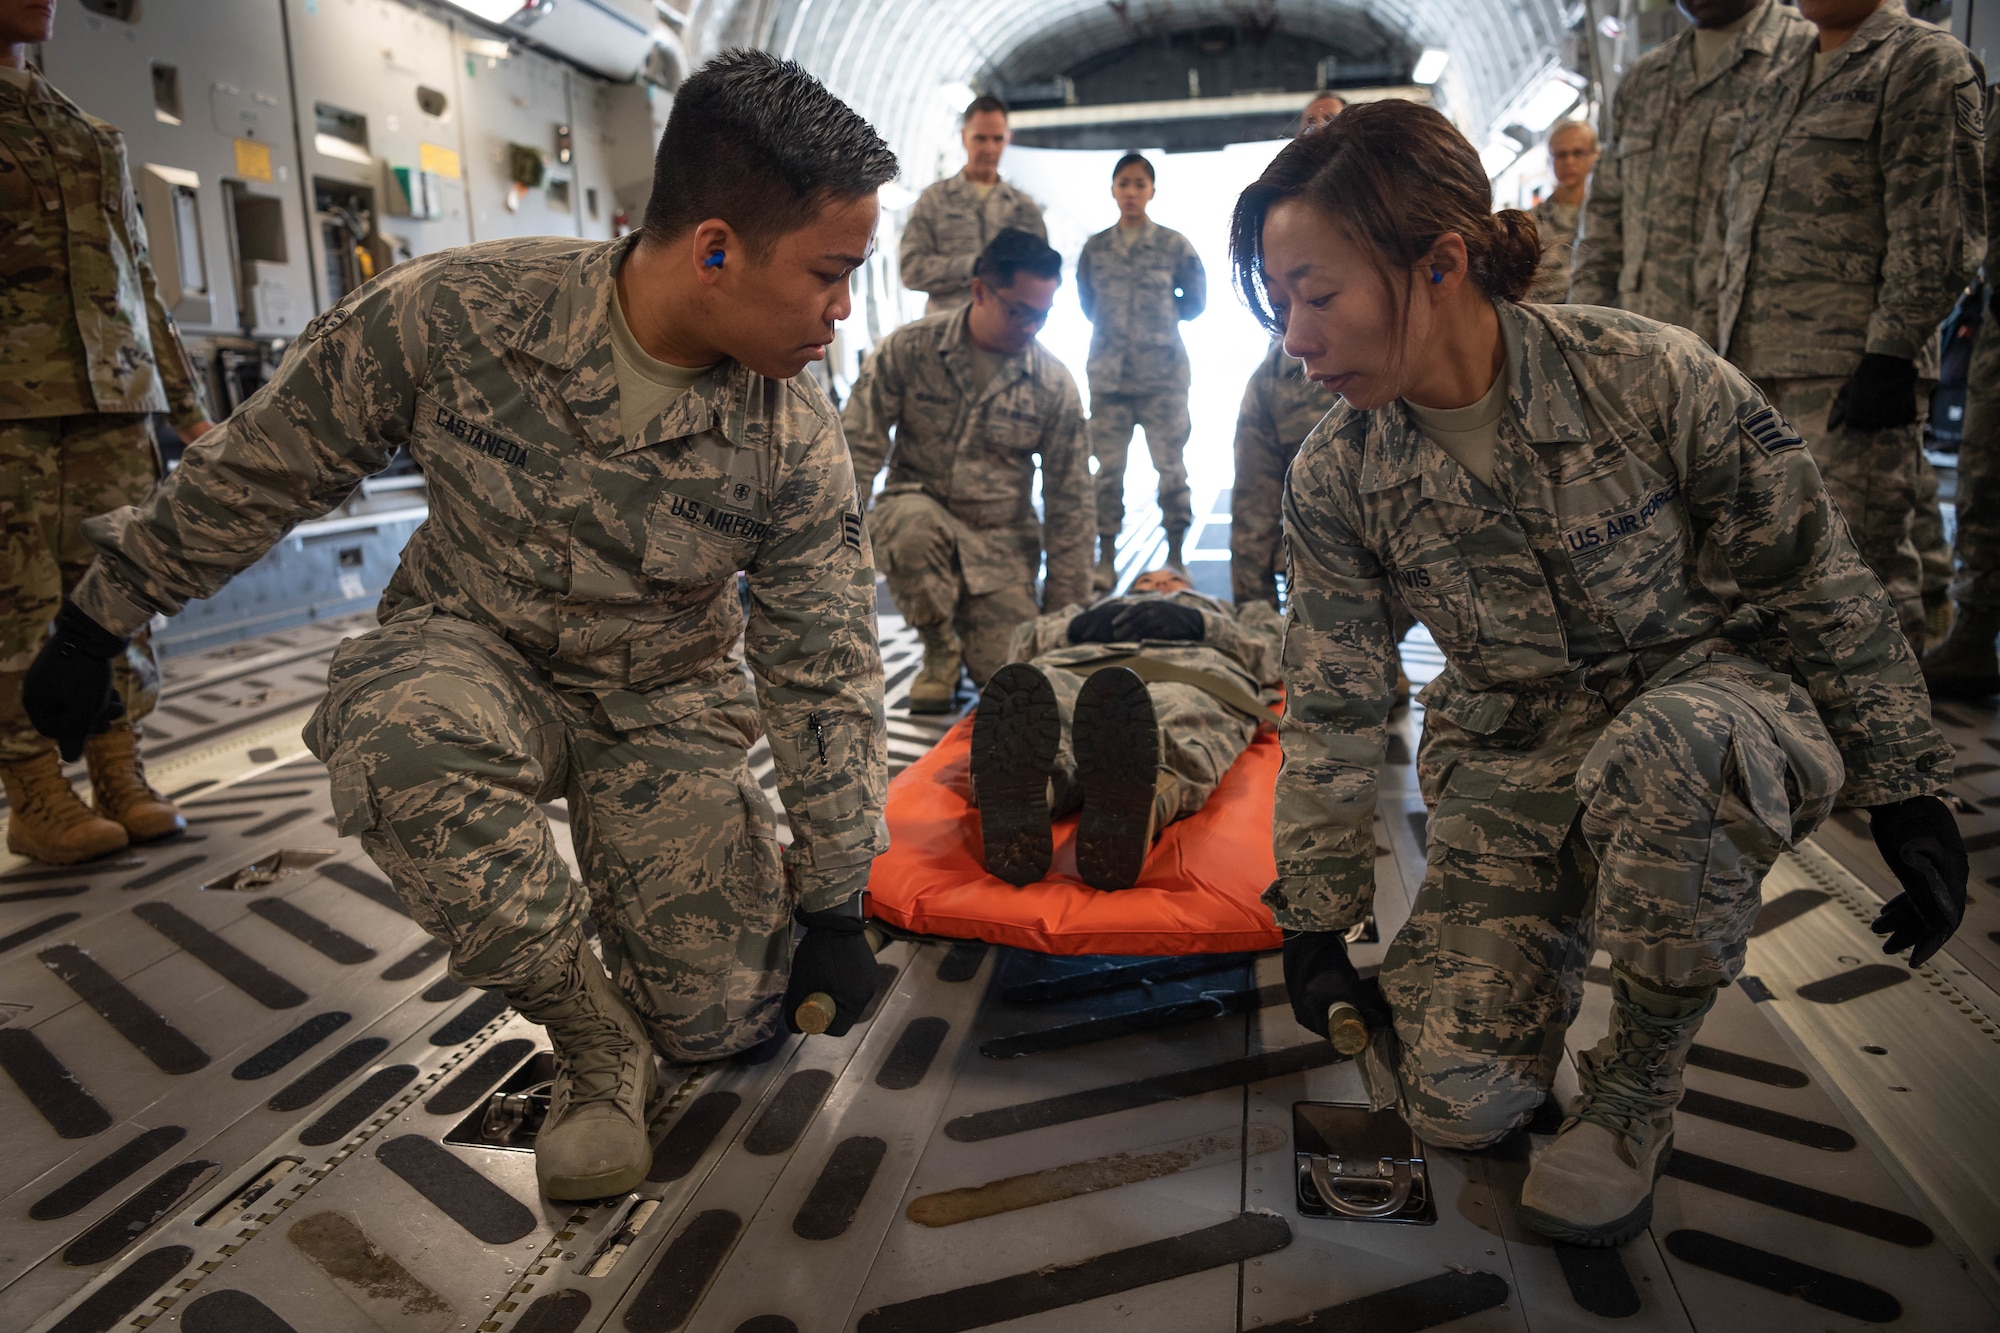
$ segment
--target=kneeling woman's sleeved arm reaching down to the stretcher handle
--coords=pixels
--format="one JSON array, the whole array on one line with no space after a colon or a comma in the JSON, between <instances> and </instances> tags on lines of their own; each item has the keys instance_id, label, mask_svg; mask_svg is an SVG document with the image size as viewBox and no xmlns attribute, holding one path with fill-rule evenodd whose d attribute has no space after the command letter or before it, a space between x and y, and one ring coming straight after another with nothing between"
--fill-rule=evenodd
<instances>
[{"instance_id":1,"label":"kneeling woman's sleeved arm reaching down to the stretcher handle","mask_svg":"<svg viewBox=\"0 0 2000 1333\"><path fill-rule=\"evenodd\" d=\"M1374 907L1376 771L1396 693L1388 580L1340 518L1332 454L1314 430L1284 490L1284 767L1264 903L1286 931L1346 931Z\"/></svg>"}]
</instances>

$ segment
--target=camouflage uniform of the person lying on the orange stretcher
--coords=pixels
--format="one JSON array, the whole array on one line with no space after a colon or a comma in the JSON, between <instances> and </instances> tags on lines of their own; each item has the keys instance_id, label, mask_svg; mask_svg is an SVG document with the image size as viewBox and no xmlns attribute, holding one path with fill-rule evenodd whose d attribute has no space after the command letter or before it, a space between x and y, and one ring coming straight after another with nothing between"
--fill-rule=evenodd
<instances>
[{"instance_id":1,"label":"camouflage uniform of the person lying on the orange stretcher","mask_svg":"<svg viewBox=\"0 0 2000 1333\"><path fill-rule=\"evenodd\" d=\"M1134 592L1108 598L1112 604L1154 598L1158 592ZM1202 612L1202 640L1146 642L1070 642L1070 620L1082 614L1080 604L1052 610L1022 624L1014 632L1010 662L1028 662L1048 677L1056 691L1056 711L1062 719L1062 745L1056 751L1054 801L1056 819L1074 815L1084 795L1076 787L1076 749L1070 743L1070 721L1076 717L1076 697L1096 662L1118 664L1134 654L1150 660L1214 677L1264 709L1278 705L1278 648L1284 624L1274 606L1250 602L1236 610L1200 592L1174 592L1166 600L1194 606ZM1104 604L1104 602L1100 602ZM1070 671L1080 666L1082 671ZM1154 717L1160 727L1160 775L1154 783L1154 829L1166 829L1208 803L1222 775L1236 757L1250 749L1262 725L1242 707L1222 703L1212 691L1186 681L1148 681ZM1276 721L1276 713L1268 721Z\"/></svg>"}]
</instances>

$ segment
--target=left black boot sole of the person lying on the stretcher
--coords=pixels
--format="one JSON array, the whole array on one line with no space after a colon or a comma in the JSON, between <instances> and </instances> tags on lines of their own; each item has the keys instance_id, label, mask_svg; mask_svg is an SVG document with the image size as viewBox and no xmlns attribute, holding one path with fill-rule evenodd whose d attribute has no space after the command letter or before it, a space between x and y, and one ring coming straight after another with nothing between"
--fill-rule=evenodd
<instances>
[{"instance_id":1,"label":"left black boot sole of the person lying on the stretcher","mask_svg":"<svg viewBox=\"0 0 2000 1333\"><path fill-rule=\"evenodd\" d=\"M980 691L972 715L972 791L980 803L986 871L1010 885L1048 875L1048 773L1062 719L1056 691L1034 666L1008 662Z\"/></svg>"}]
</instances>

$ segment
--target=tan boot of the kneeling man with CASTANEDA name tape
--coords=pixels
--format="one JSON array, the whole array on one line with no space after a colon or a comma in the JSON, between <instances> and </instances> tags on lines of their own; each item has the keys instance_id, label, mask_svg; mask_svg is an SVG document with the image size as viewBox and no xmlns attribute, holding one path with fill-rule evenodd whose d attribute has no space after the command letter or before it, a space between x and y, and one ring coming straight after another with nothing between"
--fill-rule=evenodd
<instances>
[{"instance_id":1,"label":"tan boot of the kneeling man with CASTANEDA name tape","mask_svg":"<svg viewBox=\"0 0 2000 1333\"><path fill-rule=\"evenodd\" d=\"M646 1103L658 1079L652 1039L578 945L576 957L508 991L522 1017L548 1029L556 1081L534 1139L534 1179L550 1199L606 1199L638 1189L652 1169Z\"/></svg>"}]
</instances>

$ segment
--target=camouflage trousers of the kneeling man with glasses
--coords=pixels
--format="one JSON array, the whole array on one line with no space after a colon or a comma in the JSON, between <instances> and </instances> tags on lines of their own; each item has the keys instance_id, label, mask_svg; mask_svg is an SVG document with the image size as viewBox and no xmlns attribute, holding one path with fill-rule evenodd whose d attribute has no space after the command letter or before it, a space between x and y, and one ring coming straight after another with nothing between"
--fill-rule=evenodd
<instances>
[{"instance_id":1,"label":"camouflage trousers of the kneeling man with glasses","mask_svg":"<svg viewBox=\"0 0 2000 1333\"><path fill-rule=\"evenodd\" d=\"M1034 566L990 560L964 520L928 494L878 496L868 510L868 540L896 610L918 628L950 624L974 685L1006 666L1014 626L1042 612Z\"/></svg>"}]
</instances>

